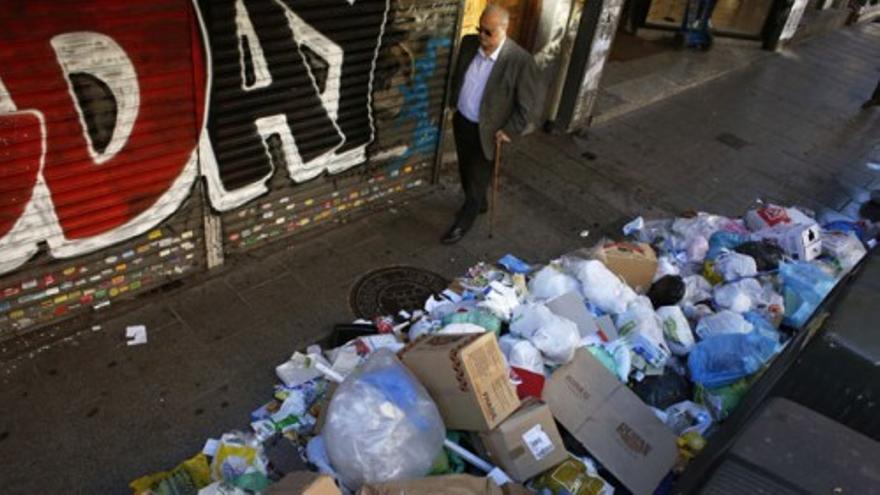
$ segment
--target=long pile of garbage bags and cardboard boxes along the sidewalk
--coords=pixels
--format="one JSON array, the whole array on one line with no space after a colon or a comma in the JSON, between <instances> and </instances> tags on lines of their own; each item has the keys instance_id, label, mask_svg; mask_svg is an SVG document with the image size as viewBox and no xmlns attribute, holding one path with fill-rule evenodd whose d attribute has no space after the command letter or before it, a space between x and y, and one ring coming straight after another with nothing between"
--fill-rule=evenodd
<instances>
[{"instance_id":1,"label":"long pile of garbage bags and cardboard boxes along the sidewalk","mask_svg":"<svg viewBox=\"0 0 880 495\"><path fill-rule=\"evenodd\" d=\"M865 256L867 234L760 205L637 218L624 236L543 266L478 263L418 311L338 326L332 348L276 368L252 431L132 489L668 490ZM313 473L273 458L294 447Z\"/></svg>"}]
</instances>

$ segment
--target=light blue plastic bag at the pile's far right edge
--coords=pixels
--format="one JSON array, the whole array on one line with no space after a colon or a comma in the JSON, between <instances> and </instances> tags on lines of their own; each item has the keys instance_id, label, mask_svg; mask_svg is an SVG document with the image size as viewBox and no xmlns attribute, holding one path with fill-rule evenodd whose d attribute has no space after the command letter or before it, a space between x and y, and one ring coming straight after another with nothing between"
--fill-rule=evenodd
<instances>
[{"instance_id":1,"label":"light blue plastic bag at the pile's far right edge","mask_svg":"<svg viewBox=\"0 0 880 495\"><path fill-rule=\"evenodd\" d=\"M782 296L785 298L783 323L802 328L834 288L834 277L808 261L779 264Z\"/></svg>"}]
</instances>

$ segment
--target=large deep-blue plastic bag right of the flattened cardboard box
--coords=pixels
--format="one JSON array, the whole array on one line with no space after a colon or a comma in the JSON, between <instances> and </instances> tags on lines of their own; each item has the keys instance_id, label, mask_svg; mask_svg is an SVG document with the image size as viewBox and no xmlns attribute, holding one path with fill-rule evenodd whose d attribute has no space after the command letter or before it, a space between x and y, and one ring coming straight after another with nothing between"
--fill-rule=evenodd
<instances>
[{"instance_id":1,"label":"large deep-blue plastic bag right of the flattened cardboard box","mask_svg":"<svg viewBox=\"0 0 880 495\"><path fill-rule=\"evenodd\" d=\"M688 356L691 379L706 388L730 385L760 370L778 347L775 339L756 331L707 337Z\"/></svg>"}]
</instances>

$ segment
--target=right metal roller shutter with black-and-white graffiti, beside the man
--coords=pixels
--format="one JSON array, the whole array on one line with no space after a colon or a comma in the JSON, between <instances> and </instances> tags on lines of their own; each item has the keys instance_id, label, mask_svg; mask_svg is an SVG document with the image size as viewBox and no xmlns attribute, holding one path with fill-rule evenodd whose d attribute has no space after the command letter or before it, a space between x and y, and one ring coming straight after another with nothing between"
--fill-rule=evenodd
<instances>
[{"instance_id":1,"label":"right metal roller shutter with black-and-white graffiti, beside the man","mask_svg":"<svg viewBox=\"0 0 880 495\"><path fill-rule=\"evenodd\" d=\"M224 250L430 183L457 1L204 1Z\"/></svg>"}]
</instances>

